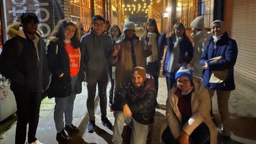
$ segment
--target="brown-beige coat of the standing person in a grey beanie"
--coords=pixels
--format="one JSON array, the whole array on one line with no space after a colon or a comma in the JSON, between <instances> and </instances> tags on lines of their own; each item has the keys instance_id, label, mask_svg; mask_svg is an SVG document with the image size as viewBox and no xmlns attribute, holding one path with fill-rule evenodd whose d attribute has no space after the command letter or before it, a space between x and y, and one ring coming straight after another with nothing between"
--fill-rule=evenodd
<instances>
[{"instance_id":1,"label":"brown-beige coat of the standing person in a grey beanie","mask_svg":"<svg viewBox=\"0 0 256 144\"><path fill-rule=\"evenodd\" d=\"M136 56L137 66L145 68L145 57L143 54L143 47L139 40L133 40L134 52ZM120 51L117 57L111 61L115 64L115 93L119 87L122 87L124 83L129 82L132 76L132 55L131 55L131 43L130 41L121 42L117 41L120 46Z\"/></svg>"}]
</instances>

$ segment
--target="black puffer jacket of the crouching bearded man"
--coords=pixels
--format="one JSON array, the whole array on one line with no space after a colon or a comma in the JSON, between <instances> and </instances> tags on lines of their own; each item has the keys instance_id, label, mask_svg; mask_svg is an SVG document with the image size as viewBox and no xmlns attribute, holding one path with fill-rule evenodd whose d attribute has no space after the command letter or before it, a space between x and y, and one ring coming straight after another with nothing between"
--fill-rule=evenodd
<instances>
[{"instance_id":1,"label":"black puffer jacket of the crouching bearded man","mask_svg":"<svg viewBox=\"0 0 256 144\"><path fill-rule=\"evenodd\" d=\"M123 111L124 104L128 104L136 121L141 124L152 124L157 104L153 77L147 76L143 87L136 88L132 83L126 83L119 92L115 93L112 109Z\"/></svg>"}]
</instances>

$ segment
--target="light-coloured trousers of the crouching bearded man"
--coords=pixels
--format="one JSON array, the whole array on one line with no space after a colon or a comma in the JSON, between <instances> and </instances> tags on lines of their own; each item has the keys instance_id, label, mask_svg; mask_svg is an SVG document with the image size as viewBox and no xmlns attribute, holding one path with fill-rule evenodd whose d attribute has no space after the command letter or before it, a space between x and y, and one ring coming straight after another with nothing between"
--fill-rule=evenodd
<instances>
[{"instance_id":1,"label":"light-coloured trousers of the crouching bearded man","mask_svg":"<svg viewBox=\"0 0 256 144\"><path fill-rule=\"evenodd\" d=\"M124 124L132 126L132 135L130 143L132 144L145 144L147 142L147 134L150 130L149 125L140 124L132 117L126 117L123 111L114 111L115 125L113 128L113 143L122 143L122 132Z\"/></svg>"}]
</instances>

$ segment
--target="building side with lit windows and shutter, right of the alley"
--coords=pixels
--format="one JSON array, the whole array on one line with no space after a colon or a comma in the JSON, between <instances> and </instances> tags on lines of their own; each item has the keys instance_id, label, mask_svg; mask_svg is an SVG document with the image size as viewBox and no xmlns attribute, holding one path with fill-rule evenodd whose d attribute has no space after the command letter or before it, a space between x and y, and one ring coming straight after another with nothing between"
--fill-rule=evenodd
<instances>
[{"instance_id":1,"label":"building side with lit windows and shutter, right of the alley","mask_svg":"<svg viewBox=\"0 0 256 144\"><path fill-rule=\"evenodd\" d=\"M176 22L186 26L197 16L204 16L205 28L210 30L214 20L223 20L229 37L238 43L238 59L235 66L236 83L242 83L256 91L256 1L253 0L171 0L168 18L169 32ZM164 8L163 8L164 9Z\"/></svg>"}]
</instances>

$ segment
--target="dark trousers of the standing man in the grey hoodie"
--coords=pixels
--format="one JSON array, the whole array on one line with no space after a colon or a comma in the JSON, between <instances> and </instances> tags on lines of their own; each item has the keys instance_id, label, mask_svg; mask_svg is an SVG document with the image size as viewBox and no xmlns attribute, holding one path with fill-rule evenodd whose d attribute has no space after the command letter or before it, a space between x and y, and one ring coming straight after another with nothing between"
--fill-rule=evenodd
<instances>
[{"instance_id":1,"label":"dark trousers of the standing man in the grey hoodie","mask_svg":"<svg viewBox=\"0 0 256 144\"><path fill-rule=\"evenodd\" d=\"M88 76L89 77L89 76ZM94 76L88 78L87 81L87 91L88 91L88 98L87 98L87 111L89 114L89 120L95 120L94 116L94 99L96 96L96 87L98 84L98 95L100 98L100 114L101 117L106 117L106 105L107 105L107 98L106 98L106 86L108 84L108 72L104 72L100 78L96 79Z\"/></svg>"}]
</instances>

